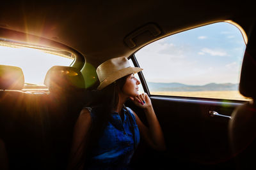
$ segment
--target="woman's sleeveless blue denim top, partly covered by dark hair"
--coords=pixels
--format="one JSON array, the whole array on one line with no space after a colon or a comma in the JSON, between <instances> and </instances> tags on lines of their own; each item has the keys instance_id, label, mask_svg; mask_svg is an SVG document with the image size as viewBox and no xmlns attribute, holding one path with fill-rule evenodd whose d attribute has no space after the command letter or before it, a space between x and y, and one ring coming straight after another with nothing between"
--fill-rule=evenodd
<instances>
[{"instance_id":1,"label":"woman's sleeveless blue denim top, partly covered by dark hair","mask_svg":"<svg viewBox=\"0 0 256 170\"><path fill-rule=\"evenodd\" d=\"M90 111L95 121L93 108ZM126 169L131 161L134 150L140 142L140 132L136 118L130 108L123 108L124 121L118 113L112 113L112 121L108 122L97 145L91 149L91 157L84 169ZM92 122L93 123L93 122Z\"/></svg>"}]
</instances>

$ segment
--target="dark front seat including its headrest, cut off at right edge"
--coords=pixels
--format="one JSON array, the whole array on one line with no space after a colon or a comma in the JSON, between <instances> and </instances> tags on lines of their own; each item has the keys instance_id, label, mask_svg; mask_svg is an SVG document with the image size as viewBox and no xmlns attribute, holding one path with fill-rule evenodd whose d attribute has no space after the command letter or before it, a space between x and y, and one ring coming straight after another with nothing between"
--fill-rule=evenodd
<instances>
[{"instance_id":1,"label":"dark front seat including its headrest, cut off at right edge","mask_svg":"<svg viewBox=\"0 0 256 170\"><path fill-rule=\"evenodd\" d=\"M251 32L244 53L239 92L252 101L245 103L232 113L229 123L230 146L237 168L255 167L256 152L256 31Z\"/></svg>"}]
</instances>

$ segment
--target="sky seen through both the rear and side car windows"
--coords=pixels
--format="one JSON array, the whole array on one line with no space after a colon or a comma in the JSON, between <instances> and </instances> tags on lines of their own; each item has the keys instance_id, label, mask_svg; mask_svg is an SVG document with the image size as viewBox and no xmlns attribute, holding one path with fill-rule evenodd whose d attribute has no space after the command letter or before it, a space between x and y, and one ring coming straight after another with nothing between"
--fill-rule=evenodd
<instances>
[{"instance_id":1,"label":"sky seen through both the rear and side car windows","mask_svg":"<svg viewBox=\"0 0 256 170\"><path fill-rule=\"evenodd\" d=\"M245 47L239 29L221 22L160 39L135 55L147 81L238 83ZM0 53L0 64L21 67L26 83L40 85L52 66L72 63L72 59L31 48L0 46Z\"/></svg>"}]
</instances>

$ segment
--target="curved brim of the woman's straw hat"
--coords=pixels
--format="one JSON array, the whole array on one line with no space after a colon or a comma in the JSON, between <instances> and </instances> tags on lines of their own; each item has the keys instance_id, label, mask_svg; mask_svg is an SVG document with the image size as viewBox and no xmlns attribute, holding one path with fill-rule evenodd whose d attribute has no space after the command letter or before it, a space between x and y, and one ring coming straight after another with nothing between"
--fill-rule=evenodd
<instances>
[{"instance_id":1,"label":"curved brim of the woman's straw hat","mask_svg":"<svg viewBox=\"0 0 256 170\"><path fill-rule=\"evenodd\" d=\"M132 73L134 73L134 74L138 73L141 70L143 70L143 69L140 67L126 67L124 69L120 69L120 70L116 71L115 73L112 73L111 75L109 75L105 80L103 80L97 89L101 90L104 87L113 83L114 81L118 80L119 78L122 78L123 76L127 76Z\"/></svg>"}]
</instances>

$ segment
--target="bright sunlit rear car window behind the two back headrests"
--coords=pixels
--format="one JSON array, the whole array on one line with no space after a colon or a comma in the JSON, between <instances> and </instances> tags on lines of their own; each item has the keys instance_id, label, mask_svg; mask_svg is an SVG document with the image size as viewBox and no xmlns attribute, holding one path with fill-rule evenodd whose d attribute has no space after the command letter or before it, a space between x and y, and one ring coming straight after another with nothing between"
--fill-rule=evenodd
<instances>
[{"instance_id":1,"label":"bright sunlit rear car window behind the two back headrests","mask_svg":"<svg viewBox=\"0 0 256 170\"><path fill-rule=\"evenodd\" d=\"M52 66L70 66L72 56L58 55L35 48L0 44L0 64L20 67L26 85L44 85L44 78Z\"/></svg>"}]
</instances>

